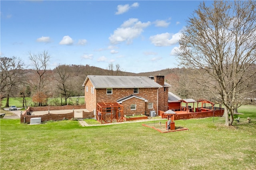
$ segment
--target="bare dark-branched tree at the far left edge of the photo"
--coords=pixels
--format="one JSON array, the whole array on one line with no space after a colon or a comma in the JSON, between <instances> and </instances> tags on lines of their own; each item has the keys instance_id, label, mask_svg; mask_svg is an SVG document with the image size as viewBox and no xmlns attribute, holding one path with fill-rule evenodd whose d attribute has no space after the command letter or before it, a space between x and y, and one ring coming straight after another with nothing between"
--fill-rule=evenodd
<instances>
[{"instance_id":1,"label":"bare dark-branched tree at the far left edge of the photo","mask_svg":"<svg viewBox=\"0 0 256 170\"><path fill-rule=\"evenodd\" d=\"M9 107L10 93L24 80L24 62L17 57L0 57L0 92L6 97L5 107Z\"/></svg>"}]
</instances>

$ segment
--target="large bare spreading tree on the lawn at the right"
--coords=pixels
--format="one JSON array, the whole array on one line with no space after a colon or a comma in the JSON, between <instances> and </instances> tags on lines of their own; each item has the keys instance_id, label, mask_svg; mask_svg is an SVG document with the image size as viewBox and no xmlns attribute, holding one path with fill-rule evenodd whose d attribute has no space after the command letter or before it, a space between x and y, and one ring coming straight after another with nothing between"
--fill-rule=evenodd
<instances>
[{"instance_id":1,"label":"large bare spreading tree on the lawn at the right","mask_svg":"<svg viewBox=\"0 0 256 170\"><path fill-rule=\"evenodd\" d=\"M179 43L180 65L198 71L194 82L224 105L225 125L232 125L234 109L255 83L256 1L200 3Z\"/></svg>"}]
</instances>

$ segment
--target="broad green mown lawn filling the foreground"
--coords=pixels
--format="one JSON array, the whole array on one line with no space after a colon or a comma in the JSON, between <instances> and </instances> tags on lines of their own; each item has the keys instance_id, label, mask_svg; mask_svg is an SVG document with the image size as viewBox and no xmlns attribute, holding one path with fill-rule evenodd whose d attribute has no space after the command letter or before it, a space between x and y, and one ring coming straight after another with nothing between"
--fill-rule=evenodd
<instances>
[{"instance_id":1,"label":"broad green mown lawn filling the foreground","mask_svg":"<svg viewBox=\"0 0 256 170\"><path fill-rule=\"evenodd\" d=\"M244 115L235 115L241 123L233 127L222 117L178 120L176 126L189 130L170 133L142 123L82 127L78 121L1 119L0 169L255 170L256 107L238 111Z\"/></svg>"}]
</instances>

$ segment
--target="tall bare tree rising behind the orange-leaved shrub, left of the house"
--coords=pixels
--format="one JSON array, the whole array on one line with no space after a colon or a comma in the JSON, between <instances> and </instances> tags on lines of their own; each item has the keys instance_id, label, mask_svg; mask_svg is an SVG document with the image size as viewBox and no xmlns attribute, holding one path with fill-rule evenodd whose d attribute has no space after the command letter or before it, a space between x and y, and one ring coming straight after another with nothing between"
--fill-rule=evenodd
<instances>
[{"instance_id":1,"label":"tall bare tree rising behind the orange-leaved shrub, left of the house","mask_svg":"<svg viewBox=\"0 0 256 170\"><path fill-rule=\"evenodd\" d=\"M50 55L48 55L48 51L43 51L38 55L32 54L31 52L29 52L29 59L32 62L34 70L38 75L38 81L32 82L32 84L34 84L34 89L36 90L35 92L36 94L38 94L38 92L43 92L44 94L46 94L44 87L46 87L46 80L49 78L48 76L46 76L46 72L48 69L50 58L51 57ZM41 104L42 103L39 103L39 106L41 106Z\"/></svg>"}]
</instances>

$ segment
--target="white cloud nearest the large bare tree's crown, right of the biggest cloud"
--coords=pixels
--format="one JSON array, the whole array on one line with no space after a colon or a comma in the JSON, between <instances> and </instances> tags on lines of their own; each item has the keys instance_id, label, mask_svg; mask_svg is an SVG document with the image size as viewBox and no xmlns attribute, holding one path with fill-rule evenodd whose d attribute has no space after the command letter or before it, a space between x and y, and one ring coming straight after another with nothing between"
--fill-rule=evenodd
<instances>
[{"instance_id":1,"label":"white cloud nearest the large bare tree's crown, right of the biggest cloud","mask_svg":"<svg viewBox=\"0 0 256 170\"><path fill-rule=\"evenodd\" d=\"M150 36L150 41L155 46L170 46L178 43L180 40L181 33L170 34L168 32L163 34L157 34L155 36Z\"/></svg>"}]
</instances>

